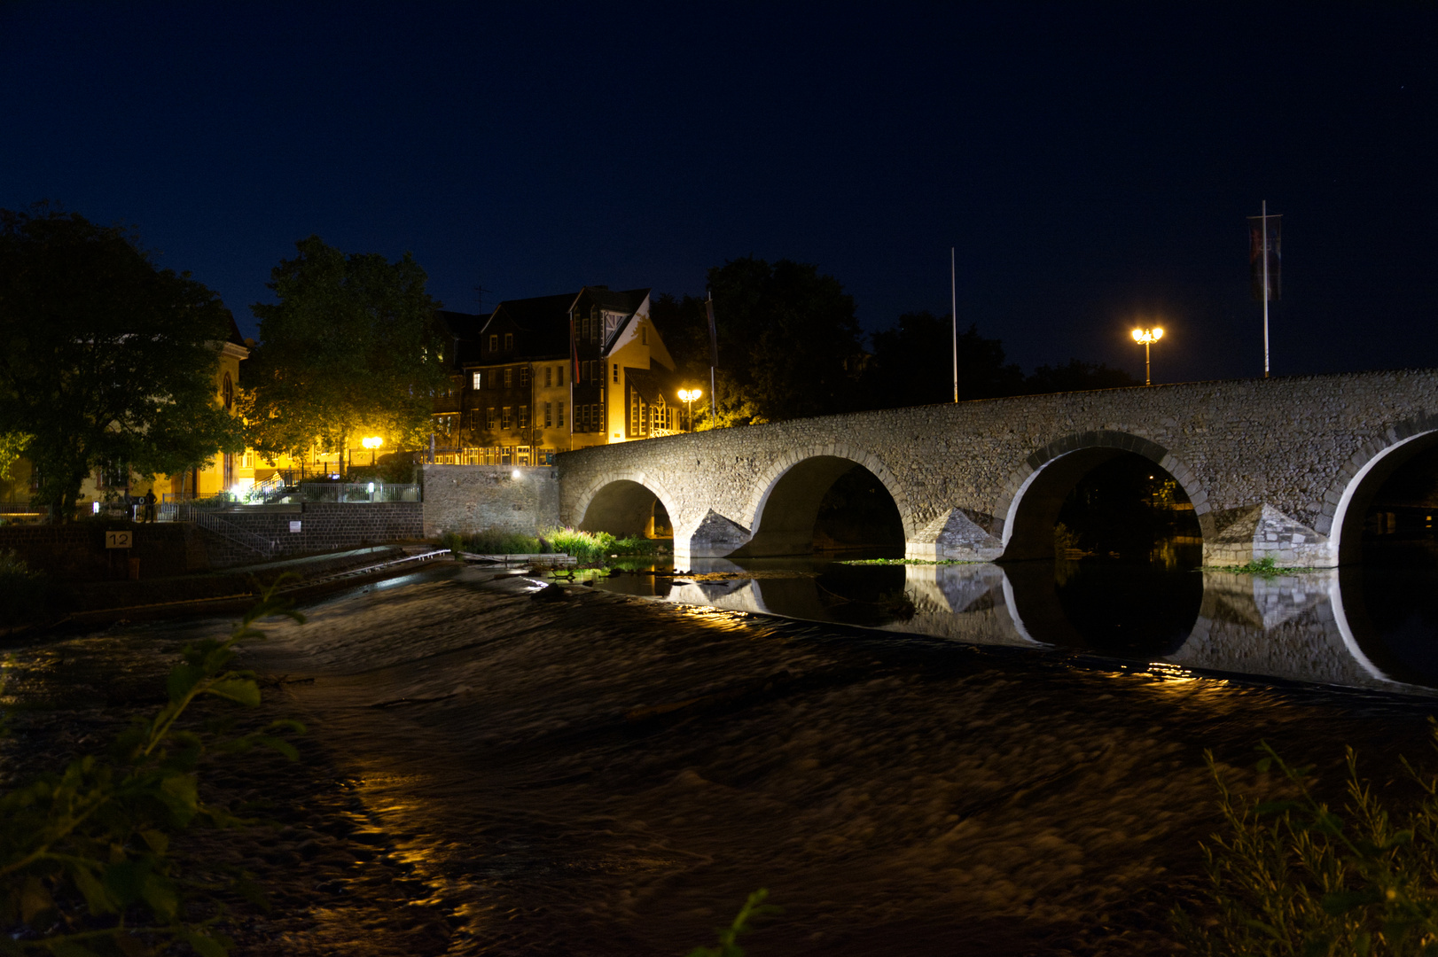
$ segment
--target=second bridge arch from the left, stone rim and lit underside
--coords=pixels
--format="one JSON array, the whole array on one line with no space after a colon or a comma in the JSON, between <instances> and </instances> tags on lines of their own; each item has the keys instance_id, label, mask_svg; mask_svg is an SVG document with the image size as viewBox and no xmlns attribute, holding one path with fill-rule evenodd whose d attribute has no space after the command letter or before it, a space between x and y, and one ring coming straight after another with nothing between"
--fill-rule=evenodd
<instances>
[{"instance_id":1,"label":"second bridge arch from the left, stone rim and lit underside","mask_svg":"<svg viewBox=\"0 0 1438 957\"><path fill-rule=\"evenodd\" d=\"M814 523L824 493L846 471L863 466L899 509L905 540L913 537L913 510L903 483L876 456L847 443L792 448L779 456L754 484L743 520L752 530L742 555L795 555L814 545Z\"/></svg>"}]
</instances>

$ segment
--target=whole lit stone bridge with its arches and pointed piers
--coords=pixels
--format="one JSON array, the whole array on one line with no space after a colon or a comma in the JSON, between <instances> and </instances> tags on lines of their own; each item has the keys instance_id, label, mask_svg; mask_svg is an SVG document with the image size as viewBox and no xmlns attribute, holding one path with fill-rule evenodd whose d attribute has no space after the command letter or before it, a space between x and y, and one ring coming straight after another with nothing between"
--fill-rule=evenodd
<instances>
[{"instance_id":1,"label":"whole lit stone bridge with its arches and pointed piers","mask_svg":"<svg viewBox=\"0 0 1438 957\"><path fill-rule=\"evenodd\" d=\"M909 558L1051 558L1078 478L1139 456L1186 493L1205 565L1334 566L1357 560L1379 486L1434 447L1438 369L1061 392L565 453L559 517L637 532L657 500L679 563L794 555L858 464L893 497Z\"/></svg>"}]
</instances>

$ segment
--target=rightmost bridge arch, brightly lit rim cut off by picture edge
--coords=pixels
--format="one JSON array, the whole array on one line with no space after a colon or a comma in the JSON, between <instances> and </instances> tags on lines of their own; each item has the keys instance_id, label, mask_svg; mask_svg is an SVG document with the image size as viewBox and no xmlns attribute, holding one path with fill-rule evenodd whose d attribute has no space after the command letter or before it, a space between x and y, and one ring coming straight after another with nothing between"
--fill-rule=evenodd
<instances>
[{"instance_id":1,"label":"rightmost bridge arch, brightly lit rim cut off by picture edge","mask_svg":"<svg viewBox=\"0 0 1438 957\"><path fill-rule=\"evenodd\" d=\"M1362 560L1363 520L1383 484L1415 457L1435 447L1438 415L1428 414L1398 422L1382 438L1363 443L1339 467L1314 522L1314 532L1329 536L1329 549L1339 565Z\"/></svg>"}]
</instances>

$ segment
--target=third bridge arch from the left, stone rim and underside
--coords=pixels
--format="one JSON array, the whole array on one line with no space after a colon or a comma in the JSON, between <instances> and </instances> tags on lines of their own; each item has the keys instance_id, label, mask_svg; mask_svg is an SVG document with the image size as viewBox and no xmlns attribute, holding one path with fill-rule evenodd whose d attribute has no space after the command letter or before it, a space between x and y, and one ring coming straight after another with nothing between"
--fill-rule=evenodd
<instances>
[{"instance_id":1,"label":"third bridge arch from the left, stone rim and underside","mask_svg":"<svg viewBox=\"0 0 1438 957\"><path fill-rule=\"evenodd\" d=\"M1054 556L1054 522L1064 497L1083 476L1106 461L1125 454L1148 458L1183 489L1194 504L1194 514L1204 539L1214 536L1214 517L1208 491L1194 470L1155 441L1113 430L1094 430L1066 435L1035 448L1009 476L995 516L1002 516L1004 553L999 560L1024 560Z\"/></svg>"}]
</instances>

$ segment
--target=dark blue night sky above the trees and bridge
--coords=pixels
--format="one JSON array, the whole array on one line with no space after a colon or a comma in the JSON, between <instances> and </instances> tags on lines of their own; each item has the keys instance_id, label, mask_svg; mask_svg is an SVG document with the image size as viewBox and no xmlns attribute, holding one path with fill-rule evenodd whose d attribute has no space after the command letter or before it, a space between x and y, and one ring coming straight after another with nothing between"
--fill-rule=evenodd
<instances>
[{"instance_id":1,"label":"dark blue night sky above the trees and bridge","mask_svg":"<svg viewBox=\"0 0 1438 957\"><path fill-rule=\"evenodd\" d=\"M823 16L820 16L823 14ZM1438 365L1435 4L0 3L0 205L127 221L253 333L318 233L449 308L817 263L1155 379ZM720 316L720 322L723 318ZM946 343L940 343L940 348Z\"/></svg>"}]
</instances>

